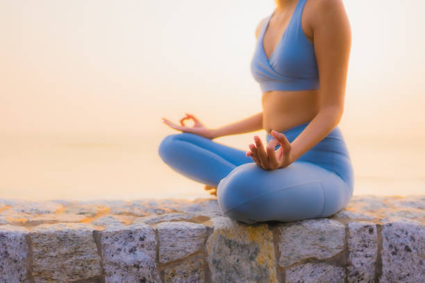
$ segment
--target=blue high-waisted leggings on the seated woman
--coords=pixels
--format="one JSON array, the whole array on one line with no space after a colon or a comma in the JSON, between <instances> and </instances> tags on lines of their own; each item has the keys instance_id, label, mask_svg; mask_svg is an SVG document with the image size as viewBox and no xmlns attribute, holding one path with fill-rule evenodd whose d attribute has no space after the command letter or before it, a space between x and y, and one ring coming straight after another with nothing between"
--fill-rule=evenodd
<instances>
[{"instance_id":1,"label":"blue high-waisted leggings on the seated woman","mask_svg":"<svg viewBox=\"0 0 425 283\"><path fill-rule=\"evenodd\" d=\"M306 126L283 134L292 142ZM353 167L338 126L292 164L271 171L245 151L188 132L165 137L158 153L174 171L217 187L223 214L244 223L327 217L353 196Z\"/></svg>"}]
</instances>

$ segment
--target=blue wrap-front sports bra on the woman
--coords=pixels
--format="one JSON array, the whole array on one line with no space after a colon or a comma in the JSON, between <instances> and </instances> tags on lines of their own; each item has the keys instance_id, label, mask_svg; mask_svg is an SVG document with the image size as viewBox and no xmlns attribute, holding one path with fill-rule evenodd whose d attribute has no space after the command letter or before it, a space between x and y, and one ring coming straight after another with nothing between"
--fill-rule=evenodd
<instances>
[{"instance_id":1,"label":"blue wrap-front sports bra on the woman","mask_svg":"<svg viewBox=\"0 0 425 283\"><path fill-rule=\"evenodd\" d=\"M258 35L251 60L251 74L260 83L263 92L319 88L315 50L301 28L306 1L298 0L290 22L269 59L263 47L263 38L274 12Z\"/></svg>"}]
</instances>

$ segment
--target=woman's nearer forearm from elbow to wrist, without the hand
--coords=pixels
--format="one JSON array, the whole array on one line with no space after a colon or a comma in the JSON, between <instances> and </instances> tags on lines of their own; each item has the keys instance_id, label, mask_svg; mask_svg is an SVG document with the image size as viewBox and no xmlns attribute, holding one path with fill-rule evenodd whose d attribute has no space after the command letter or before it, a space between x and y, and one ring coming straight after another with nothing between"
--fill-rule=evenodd
<instances>
[{"instance_id":1,"label":"woman's nearer forearm from elbow to wrist, without the hand","mask_svg":"<svg viewBox=\"0 0 425 283\"><path fill-rule=\"evenodd\" d=\"M325 108L319 111L308 126L291 143L290 154L292 160L297 160L301 155L322 141L335 126L338 126L342 111L338 108Z\"/></svg>"}]
</instances>

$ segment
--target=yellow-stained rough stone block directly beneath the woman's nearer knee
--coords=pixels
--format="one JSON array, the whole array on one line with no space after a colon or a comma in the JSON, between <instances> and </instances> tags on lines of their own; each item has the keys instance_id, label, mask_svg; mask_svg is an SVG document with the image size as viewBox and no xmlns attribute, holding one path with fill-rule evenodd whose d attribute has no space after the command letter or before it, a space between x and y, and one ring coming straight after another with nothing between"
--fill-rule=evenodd
<instances>
[{"instance_id":1,"label":"yellow-stained rough stone block directly beneath the woman's nearer knee","mask_svg":"<svg viewBox=\"0 0 425 283\"><path fill-rule=\"evenodd\" d=\"M278 282L267 224L247 225L224 216L212 221L206 250L213 282Z\"/></svg>"}]
</instances>

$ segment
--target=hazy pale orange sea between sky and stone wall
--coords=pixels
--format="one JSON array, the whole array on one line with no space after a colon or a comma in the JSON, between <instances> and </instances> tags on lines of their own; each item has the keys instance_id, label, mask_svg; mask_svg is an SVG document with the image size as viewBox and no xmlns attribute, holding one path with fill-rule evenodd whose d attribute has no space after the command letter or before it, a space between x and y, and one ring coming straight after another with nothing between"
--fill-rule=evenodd
<instances>
[{"instance_id":1,"label":"hazy pale orange sea between sky and stone wall","mask_svg":"<svg viewBox=\"0 0 425 283\"><path fill-rule=\"evenodd\" d=\"M213 198L203 184L160 159L160 141L174 133L0 135L0 198ZM215 141L245 150L253 135L265 141L265 131ZM345 135L345 140L354 195L425 194L425 140L366 135Z\"/></svg>"}]
</instances>

